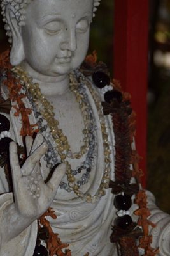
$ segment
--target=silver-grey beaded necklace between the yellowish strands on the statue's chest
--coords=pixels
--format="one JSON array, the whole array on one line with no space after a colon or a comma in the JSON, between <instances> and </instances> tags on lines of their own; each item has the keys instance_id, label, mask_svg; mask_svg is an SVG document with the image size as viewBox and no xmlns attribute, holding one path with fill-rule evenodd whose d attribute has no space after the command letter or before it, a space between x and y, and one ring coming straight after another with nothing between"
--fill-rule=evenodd
<instances>
[{"instance_id":1,"label":"silver-grey beaded necklace between the yellowish strands on the statue's chest","mask_svg":"<svg viewBox=\"0 0 170 256\"><path fill-rule=\"evenodd\" d=\"M77 74L78 76L78 74ZM81 171L85 170L85 173L83 173L83 175L81 176L80 180L77 180L77 184L78 186L82 186L84 184L86 184L89 179L90 179L90 172L92 170L92 166L94 166L94 159L96 158L96 134L95 134L95 130L97 129L96 127L96 122L95 122L95 118L92 112L92 108L90 107L89 101L88 101L88 97L87 97L87 93L86 90L84 88L85 84L81 84L79 83L78 86L78 92L81 95L81 100L83 100L83 104L85 104L85 106L83 106L83 111L86 110L86 112L88 113L87 115L87 120L88 120L88 124L86 126L86 129L89 130L89 150L87 151L87 156L85 158L85 161L83 161L83 163L80 164L80 166L78 166L75 170L72 171L72 174L75 176L78 173L81 173ZM44 138L46 139L46 143L48 143L48 152L45 154L45 161L46 161L46 166L51 170L53 168L53 166L55 166L55 164L59 164L60 163L60 159L59 156L57 154L57 145L55 143L55 141L53 140L52 134L50 131L48 131L48 125L46 125L46 123L44 124L44 122L46 122L43 119L43 116L41 116L41 113L39 113L36 104L34 103L34 100L32 99L31 95L29 94L29 92L25 92L27 93L27 97L29 99L29 102L32 105L32 110L34 111L34 115L36 117L37 120L37 124L39 126L39 131L41 131L41 133L43 134ZM38 104L39 105L39 104ZM60 183L60 189L65 189L67 192L71 192L72 189L69 188L68 184L66 182L61 182Z\"/></svg>"}]
</instances>

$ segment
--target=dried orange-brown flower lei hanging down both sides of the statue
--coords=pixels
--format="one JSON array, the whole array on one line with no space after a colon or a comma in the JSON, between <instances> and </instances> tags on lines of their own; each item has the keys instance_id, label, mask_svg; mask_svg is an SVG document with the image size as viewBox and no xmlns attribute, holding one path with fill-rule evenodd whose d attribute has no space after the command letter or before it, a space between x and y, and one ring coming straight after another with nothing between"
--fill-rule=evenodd
<instances>
[{"instance_id":1,"label":"dried orange-brown flower lei hanging down both sides of the statue","mask_svg":"<svg viewBox=\"0 0 170 256\"><path fill-rule=\"evenodd\" d=\"M89 58L87 58L87 60L85 61L85 66L82 67L82 71L84 71L84 73L88 73L88 74L92 74L92 72L94 72L94 70L97 68L97 64L96 61L94 61L96 59L96 54L94 52L93 56L89 56ZM98 65L98 67L101 67L102 65ZM10 81L10 83L6 83L6 81L3 81L4 84L6 84L8 86L8 89L10 91L10 88L12 88L15 84L16 81L13 80L13 77L11 77L10 75L10 68L11 66L9 65L8 62L8 52L6 52L5 54L3 54L3 56L1 56L0 59L0 67L2 67L3 69L7 69L6 75ZM91 70L87 70L87 67L91 68ZM104 67L104 65L103 65ZM18 82L18 81L17 81ZM113 80L113 84L115 86L115 88L117 90L119 90L122 95L123 95L123 102L128 102L130 99L130 96L127 93L123 93L122 89L120 88L120 84ZM17 101L18 107L15 106L16 112L15 115L18 116L19 113L22 115L23 113L27 116L25 118L24 115L22 115L22 117L24 118L23 122L23 126L22 126L22 130L21 130L21 135L32 135L35 131L38 132L38 129L35 129L35 125L30 125L29 124L29 114L31 113L30 109L26 109L24 104L22 104L22 100L21 97L19 96L19 94L17 95L17 92L19 92L22 88L22 86L20 86L20 83L18 83L18 88L13 87L14 93L10 93L10 98L11 101ZM16 91L19 90L19 91ZM26 97L26 95L24 95L24 93L22 94L22 98ZM127 103L127 106L129 106L129 103ZM106 104L103 104L103 111L105 115L108 115L108 113L111 113L111 116L113 118L113 123L114 123L114 129L115 129L115 134L122 134L122 131L117 131L117 129L119 129L119 125L120 124L124 124L125 125L125 129L127 129L127 131L125 132L125 141L129 140L129 143L132 143L132 138L134 137L134 132L135 132L135 127L134 127L134 113L132 112L131 115L127 115L126 118L121 119L121 122L119 119L119 116L117 115L117 111L115 111L114 108L114 104L108 104L108 106L106 106ZM113 110L114 109L114 110ZM124 116L125 117L125 116ZM124 126L123 125L123 126ZM115 128L116 127L116 128ZM117 133L118 132L118 133ZM146 193L143 190L139 190L138 191L138 186L136 186L136 184L130 184L131 181L131 177L134 177L137 181L137 184L141 178L141 170L139 170L139 166L138 166L138 162L139 162L139 156L137 154L137 152L135 150L132 150L131 147L129 147L129 143L127 143L127 147L128 147L128 152L129 154L127 154L127 151L125 151L125 153L127 154L127 156L124 159L124 163L122 163L120 161L121 159L121 151L123 148L121 148L121 150L119 150L120 148L117 140L118 140L118 135L115 138L116 140L116 156L115 156L115 182L113 182L112 180L110 180L110 188L112 188L112 193L117 194L120 191L125 191L125 192L129 192L129 193L136 193L136 199L135 199L135 203L138 204L139 209L136 210L134 212L134 214L136 214L137 216L139 216L138 219L138 225L141 226L141 228L143 229L143 236L141 238L139 238L139 244L136 244L136 238L138 238L139 236L141 236L141 234L135 234L134 231L137 231L137 229L134 229L134 227L129 230L127 230L124 234L118 234L118 231L120 230L116 230L115 226L113 226L113 233L111 234L111 240L113 243L115 243L113 237L118 237L118 253L120 253L121 256L130 256L130 255L135 255L138 256L139 252L138 252L138 248L143 248L144 249L144 256L153 256L156 255L159 252L159 249L153 249L150 244L152 243L152 236L149 235L148 232L148 226L152 225L152 227L155 227L155 225L153 223L151 223L150 221L147 220L148 216L150 216L150 212L146 206L147 204L147 197L146 197ZM124 143L125 146L125 143ZM126 148L127 149L127 148ZM130 151L129 151L130 150ZM133 169L132 171L129 168L129 164L132 165ZM124 169L124 167L126 166L126 168ZM121 171L120 168L123 167L123 170L125 170L125 172L123 173ZM50 230L50 223L48 223L48 221L46 221L45 216L52 216L52 218L54 217L55 214L53 214L51 209L48 209L48 211L43 214L42 218L39 219L40 223L42 225L44 225L45 227L48 227L48 231ZM50 232L49 232L50 233ZM53 238L55 237L55 239L58 239L58 244L60 245L59 248L55 248L56 244L52 244L51 241L53 240ZM56 234L53 234L52 230L51 230L51 234L48 238L48 244L50 244L51 247L51 251L50 251L50 255L53 256L55 255L66 255L69 256L71 255L71 252L69 250L66 250L65 253L63 253L61 250L61 248L66 248L67 244L64 244L63 247L60 244L60 239L57 238ZM120 247L119 247L120 246ZM59 254L57 254L59 252ZM88 255L88 253L87 253Z\"/></svg>"}]
</instances>

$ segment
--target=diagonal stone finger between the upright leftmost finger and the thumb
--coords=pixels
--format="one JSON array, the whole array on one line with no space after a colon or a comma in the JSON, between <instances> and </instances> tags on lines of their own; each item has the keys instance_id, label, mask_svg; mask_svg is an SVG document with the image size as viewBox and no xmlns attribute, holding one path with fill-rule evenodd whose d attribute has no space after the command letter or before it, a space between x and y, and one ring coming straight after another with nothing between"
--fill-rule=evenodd
<instances>
[{"instance_id":1,"label":"diagonal stone finger between the upright leftmost finger and the thumb","mask_svg":"<svg viewBox=\"0 0 170 256\"><path fill-rule=\"evenodd\" d=\"M34 167L39 162L43 154L46 153L48 145L46 142L43 142L34 152L27 157L24 165L22 166L22 174L23 175L30 175L31 172L34 170Z\"/></svg>"}]
</instances>

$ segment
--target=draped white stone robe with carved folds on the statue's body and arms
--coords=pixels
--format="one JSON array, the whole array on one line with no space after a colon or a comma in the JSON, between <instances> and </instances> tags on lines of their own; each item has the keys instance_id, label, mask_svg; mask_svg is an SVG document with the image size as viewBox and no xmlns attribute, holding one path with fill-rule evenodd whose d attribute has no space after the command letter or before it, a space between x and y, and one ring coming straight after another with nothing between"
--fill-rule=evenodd
<instances>
[{"instance_id":1,"label":"draped white stone robe with carved folds on the statue's body and arms","mask_svg":"<svg viewBox=\"0 0 170 256\"><path fill-rule=\"evenodd\" d=\"M96 89L97 90L97 89ZM3 97L8 98L8 92L6 88L2 88ZM87 95L89 97L90 105L94 112L97 131L97 157L96 163L94 164L90 180L87 184L83 186L83 192L90 193L94 195L99 188L101 179L104 172L104 155L103 155L103 141L102 134L99 124L99 116L97 114L97 109L92 99L92 95L87 89ZM23 99L25 106L31 108L29 100L27 98ZM11 109L10 115L6 115L10 119L11 127L10 131L14 141L22 145L22 138L20 136L20 128L22 125L20 116L15 117L13 113L15 109ZM5 114L3 114L5 115ZM36 123L34 114L29 116L31 124ZM109 141L111 147L111 173L110 178L114 180L114 157L115 157L115 140L113 133L113 124L111 122L111 117L106 116L106 127L109 134ZM68 122L68 121L67 121ZM83 159L72 161L71 165L76 168ZM49 170L45 167L43 159L42 163L42 175L44 178L47 177ZM5 210L9 204L13 203L13 194L8 193L8 182L4 174L4 170L0 170L0 221L3 214L6 214ZM66 179L66 177L64 178ZM26 188L25 188L26 189ZM113 220L116 218L116 209L113 205L113 194L111 194L111 189L106 189L106 195L100 198L99 202L96 204L89 204L81 200L74 195L74 193L68 193L63 189L58 189L57 195L51 207L55 210L57 214L57 219L53 220L48 218L50 221L53 231L59 234L63 243L69 243L69 249L73 256L83 256L85 253L89 252L90 256L116 256L117 252L115 250L115 244L110 243L111 225L113 225ZM153 230L153 244L155 247L161 247L160 255L169 255L169 223L170 218L167 214L161 212L155 206L153 196L149 194L148 198L150 208L152 209L153 216L152 221L158 222L157 228ZM136 209L136 205L132 205L130 212L132 219L135 220L134 214L132 212ZM163 223L163 224L162 224ZM1 222L0 222L1 228ZM163 229L162 229L163 228ZM4 230L5 232L5 230ZM160 236L161 234L161 236ZM34 253L34 247L36 244L37 235L37 223L34 221L32 225L27 227L19 236L11 239L6 244L1 244L0 255L1 256L32 256ZM168 238L167 238L168 237ZM1 243L1 240L0 240ZM166 244L166 246L164 245ZM167 253L168 252L168 253ZM141 253L143 253L141 251Z\"/></svg>"}]
</instances>

